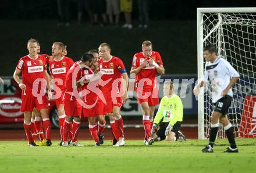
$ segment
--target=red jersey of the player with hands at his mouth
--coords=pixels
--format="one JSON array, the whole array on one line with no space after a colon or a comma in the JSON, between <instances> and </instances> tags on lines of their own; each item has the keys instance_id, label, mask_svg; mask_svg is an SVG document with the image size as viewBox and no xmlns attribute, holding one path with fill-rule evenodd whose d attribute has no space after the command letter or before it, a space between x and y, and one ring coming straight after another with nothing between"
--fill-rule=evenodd
<instances>
[{"instance_id":1,"label":"red jersey of the player with hands at his mouth","mask_svg":"<svg viewBox=\"0 0 256 173\"><path fill-rule=\"evenodd\" d=\"M162 58L158 52L152 51L152 54L150 56L159 66L163 64ZM143 52L136 53L133 56L133 63L131 64L131 67L137 68L140 66L144 59L147 59L143 55ZM150 59L148 59L150 60ZM143 88L154 88L157 81L155 80L155 77L157 75L157 69L155 69L155 66L153 65L147 65L145 69L141 69L140 73L136 74L136 83L138 83L141 79L149 78L151 80L151 85L144 84Z\"/></svg>"}]
</instances>

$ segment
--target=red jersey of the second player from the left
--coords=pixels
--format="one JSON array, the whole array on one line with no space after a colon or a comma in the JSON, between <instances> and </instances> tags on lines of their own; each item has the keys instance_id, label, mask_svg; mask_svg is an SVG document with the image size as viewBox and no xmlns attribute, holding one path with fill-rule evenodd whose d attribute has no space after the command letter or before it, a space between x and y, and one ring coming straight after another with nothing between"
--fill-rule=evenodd
<instances>
[{"instance_id":1,"label":"red jersey of the second player from the left","mask_svg":"<svg viewBox=\"0 0 256 173\"><path fill-rule=\"evenodd\" d=\"M58 84L58 82L55 82L55 85L62 90L65 89L67 71L69 71L70 67L72 67L73 64L73 60L66 56L63 56L63 58L59 61L56 61L54 59L49 63L49 71L51 75L55 79L62 80L62 84Z\"/></svg>"}]
</instances>

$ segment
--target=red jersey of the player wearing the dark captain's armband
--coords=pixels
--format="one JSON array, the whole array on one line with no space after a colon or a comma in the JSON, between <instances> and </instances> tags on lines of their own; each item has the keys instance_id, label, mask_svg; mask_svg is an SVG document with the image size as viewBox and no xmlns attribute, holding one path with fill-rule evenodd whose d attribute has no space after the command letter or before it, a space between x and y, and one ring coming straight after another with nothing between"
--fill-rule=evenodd
<instances>
[{"instance_id":1,"label":"red jersey of the player wearing the dark captain's armband","mask_svg":"<svg viewBox=\"0 0 256 173\"><path fill-rule=\"evenodd\" d=\"M102 86L102 92L104 94L111 94L112 87L117 87L113 86L116 85L113 84L113 82L116 79L122 79L122 74L126 73L125 65L123 64L122 60L119 57L111 56L111 59L109 59L107 62L104 62L103 59L99 59L99 70L101 71L101 84ZM111 79L111 80L110 80ZM108 81L109 80L109 81ZM104 84L104 82L107 82L107 84ZM119 93L122 89L121 83L118 82L118 87L116 91Z\"/></svg>"}]
</instances>

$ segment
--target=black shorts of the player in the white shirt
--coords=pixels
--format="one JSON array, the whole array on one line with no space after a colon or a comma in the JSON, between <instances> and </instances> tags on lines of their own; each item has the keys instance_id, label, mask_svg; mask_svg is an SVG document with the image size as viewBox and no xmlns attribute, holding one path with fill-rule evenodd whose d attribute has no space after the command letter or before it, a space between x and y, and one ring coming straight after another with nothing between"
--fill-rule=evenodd
<instances>
[{"instance_id":1,"label":"black shorts of the player in the white shirt","mask_svg":"<svg viewBox=\"0 0 256 173\"><path fill-rule=\"evenodd\" d=\"M232 97L229 95L225 95L223 98L219 99L218 102L214 103L214 111L218 111L222 113L223 116L227 114L229 111L229 107L231 106Z\"/></svg>"}]
</instances>

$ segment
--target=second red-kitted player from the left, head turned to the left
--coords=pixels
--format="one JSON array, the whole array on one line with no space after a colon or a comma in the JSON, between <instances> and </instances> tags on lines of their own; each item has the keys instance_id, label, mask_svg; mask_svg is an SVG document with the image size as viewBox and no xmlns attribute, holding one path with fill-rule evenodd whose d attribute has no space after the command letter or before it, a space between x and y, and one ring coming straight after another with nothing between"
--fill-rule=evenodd
<instances>
[{"instance_id":1,"label":"second red-kitted player from the left, head turned to the left","mask_svg":"<svg viewBox=\"0 0 256 173\"><path fill-rule=\"evenodd\" d=\"M66 91L66 74L70 67L74 64L71 58L62 56L64 49L65 45L62 42L54 42L52 45L52 55L54 56L54 59L49 62L49 71L54 79L54 96L59 116L59 129L61 132L60 145L62 145L63 122L65 121L66 117L62 100Z\"/></svg>"}]
</instances>

